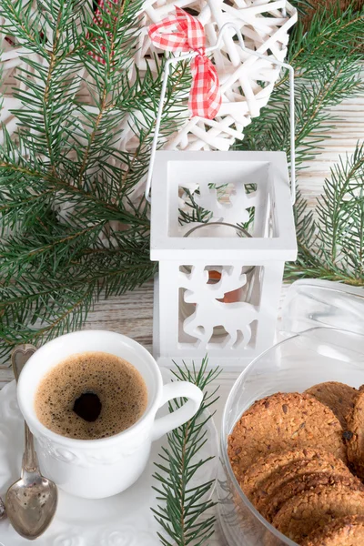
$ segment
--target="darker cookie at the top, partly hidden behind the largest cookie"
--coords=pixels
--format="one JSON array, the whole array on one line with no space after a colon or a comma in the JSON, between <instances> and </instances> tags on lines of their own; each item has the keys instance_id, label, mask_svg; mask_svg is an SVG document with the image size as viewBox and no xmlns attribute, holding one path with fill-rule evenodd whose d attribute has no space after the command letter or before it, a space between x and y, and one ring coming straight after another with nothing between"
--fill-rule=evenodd
<instances>
[{"instance_id":1,"label":"darker cookie at the top, partly hidden behind the largest cookie","mask_svg":"<svg viewBox=\"0 0 364 546\"><path fill-rule=\"evenodd\" d=\"M355 399L358 396L357 389L337 381L328 381L327 383L314 385L305 392L328 406L339 419L341 427L346 430L347 416L354 408Z\"/></svg>"}]
</instances>

